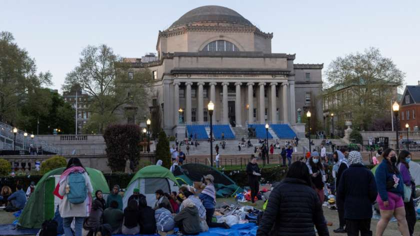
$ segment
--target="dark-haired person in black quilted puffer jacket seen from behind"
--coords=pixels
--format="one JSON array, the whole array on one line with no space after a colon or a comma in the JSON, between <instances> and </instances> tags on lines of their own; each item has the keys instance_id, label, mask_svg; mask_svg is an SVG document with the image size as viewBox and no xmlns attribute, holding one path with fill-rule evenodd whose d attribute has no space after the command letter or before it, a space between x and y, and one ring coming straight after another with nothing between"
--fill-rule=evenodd
<instances>
[{"instance_id":1,"label":"dark-haired person in black quilted puffer jacket seen from behind","mask_svg":"<svg viewBox=\"0 0 420 236\"><path fill-rule=\"evenodd\" d=\"M271 191L256 236L329 236L318 195L305 163L294 162Z\"/></svg>"}]
</instances>

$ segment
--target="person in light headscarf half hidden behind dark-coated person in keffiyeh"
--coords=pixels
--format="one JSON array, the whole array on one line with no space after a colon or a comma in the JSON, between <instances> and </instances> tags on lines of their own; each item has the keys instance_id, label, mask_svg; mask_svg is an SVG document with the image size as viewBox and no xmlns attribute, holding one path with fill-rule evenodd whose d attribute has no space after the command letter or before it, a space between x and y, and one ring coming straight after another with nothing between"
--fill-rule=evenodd
<instances>
[{"instance_id":1,"label":"person in light headscarf half hidden behind dark-coated person in keffiyeh","mask_svg":"<svg viewBox=\"0 0 420 236\"><path fill-rule=\"evenodd\" d=\"M333 169L337 170L336 175L335 175L335 192L336 192L335 195L338 196L338 189L339 189L341 175L348 168L349 164L348 164L348 159L346 156L346 154L348 155L347 149L342 148L340 150L337 150L336 153L337 153L338 163L334 166ZM338 198L336 198L335 203L336 203L337 211L338 211L339 227L338 229L333 230L333 232L336 234L345 233L346 231L344 229L345 227L344 205Z\"/></svg>"}]
</instances>

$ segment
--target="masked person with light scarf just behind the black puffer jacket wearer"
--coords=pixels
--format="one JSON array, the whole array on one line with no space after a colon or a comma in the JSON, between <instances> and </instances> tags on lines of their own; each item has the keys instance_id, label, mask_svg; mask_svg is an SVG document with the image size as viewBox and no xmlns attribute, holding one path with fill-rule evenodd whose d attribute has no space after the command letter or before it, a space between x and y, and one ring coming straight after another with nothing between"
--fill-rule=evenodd
<instances>
[{"instance_id":1,"label":"masked person with light scarf just behind the black puffer jacket wearer","mask_svg":"<svg viewBox=\"0 0 420 236\"><path fill-rule=\"evenodd\" d=\"M309 169L310 178L312 180L312 184L314 190L318 194L319 201L323 204L325 199L325 194L323 191L324 179L325 179L325 171L323 168L322 163L319 161L319 154L318 152L314 151L311 153L309 160L306 162L306 165Z\"/></svg>"}]
</instances>

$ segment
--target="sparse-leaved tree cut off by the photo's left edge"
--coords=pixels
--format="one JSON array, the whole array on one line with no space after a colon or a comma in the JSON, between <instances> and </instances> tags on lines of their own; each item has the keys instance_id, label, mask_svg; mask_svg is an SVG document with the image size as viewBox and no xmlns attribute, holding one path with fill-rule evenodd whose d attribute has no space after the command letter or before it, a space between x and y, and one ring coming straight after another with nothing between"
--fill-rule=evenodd
<instances>
[{"instance_id":1,"label":"sparse-leaved tree cut off by the photo's left edge","mask_svg":"<svg viewBox=\"0 0 420 236\"><path fill-rule=\"evenodd\" d=\"M0 32L0 55L0 121L15 124L21 104L36 89L50 85L51 74L36 74L35 60L19 48L10 32Z\"/></svg>"}]
</instances>

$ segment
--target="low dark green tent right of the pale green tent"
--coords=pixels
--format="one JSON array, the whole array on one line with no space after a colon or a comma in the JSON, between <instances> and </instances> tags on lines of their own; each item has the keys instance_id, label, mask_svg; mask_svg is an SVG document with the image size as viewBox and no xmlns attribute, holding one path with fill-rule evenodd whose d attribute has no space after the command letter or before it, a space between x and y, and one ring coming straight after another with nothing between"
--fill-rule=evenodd
<instances>
[{"instance_id":1,"label":"low dark green tent right of the pale green tent","mask_svg":"<svg viewBox=\"0 0 420 236\"><path fill-rule=\"evenodd\" d=\"M202 181L204 175L214 177L214 188L217 198L231 197L243 190L236 183L220 171L202 164L185 164L181 168L175 169L173 174L180 185L192 186L193 182Z\"/></svg>"}]
</instances>

